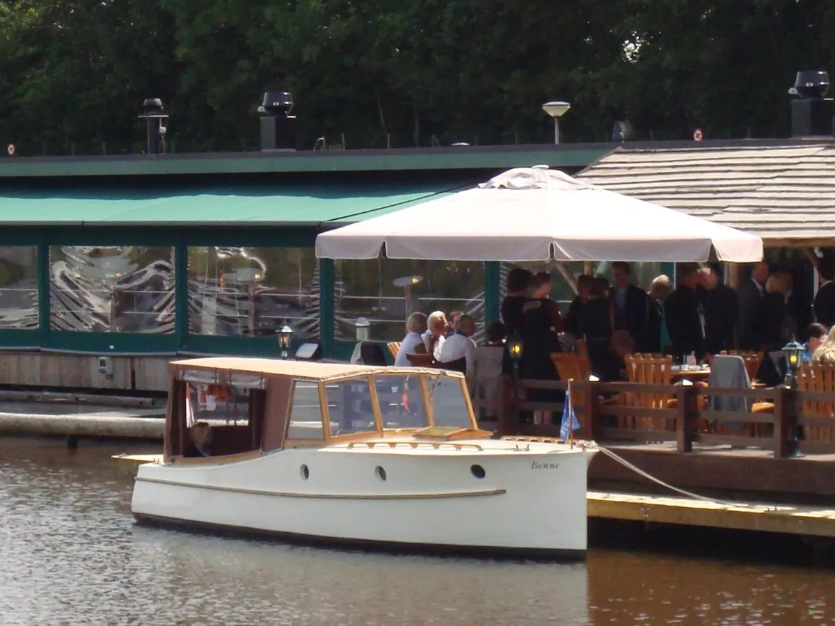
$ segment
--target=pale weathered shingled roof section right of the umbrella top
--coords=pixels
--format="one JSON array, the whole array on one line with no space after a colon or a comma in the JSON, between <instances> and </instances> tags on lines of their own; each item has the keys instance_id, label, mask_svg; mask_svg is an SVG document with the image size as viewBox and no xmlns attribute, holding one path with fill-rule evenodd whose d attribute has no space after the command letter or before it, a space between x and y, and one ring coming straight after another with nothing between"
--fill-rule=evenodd
<instances>
[{"instance_id":1,"label":"pale weathered shingled roof section right of the umbrella top","mask_svg":"<svg viewBox=\"0 0 835 626\"><path fill-rule=\"evenodd\" d=\"M760 235L767 245L832 245L835 144L618 148L578 175Z\"/></svg>"}]
</instances>

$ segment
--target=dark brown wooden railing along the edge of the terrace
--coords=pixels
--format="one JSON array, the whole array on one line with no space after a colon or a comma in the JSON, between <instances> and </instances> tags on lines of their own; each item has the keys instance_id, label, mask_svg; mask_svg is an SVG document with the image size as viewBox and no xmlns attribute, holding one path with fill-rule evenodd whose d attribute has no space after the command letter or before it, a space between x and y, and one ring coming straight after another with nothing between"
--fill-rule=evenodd
<instances>
[{"instance_id":1,"label":"dark brown wooden railing along the edge of the terrace","mask_svg":"<svg viewBox=\"0 0 835 626\"><path fill-rule=\"evenodd\" d=\"M513 386L509 379L498 382L498 393L481 394L495 397L496 401L474 401L477 411L482 406L494 411L496 427L503 435L519 434L529 436L557 436L563 415L562 402L529 401L529 390L559 389L567 385L562 381L518 382L519 400L514 403ZM774 457L784 458L794 451L810 454L835 453L835 437L832 441L809 441L803 437L806 427L828 427L835 432L835 418L832 416L800 413L798 407L815 406L815 402L832 401L832 394L820 391L796 391L793 389L738 389L708 386L645 385L630 382L574 382L572 383L574 412L580 423L579 438L594 439L597 442L676 442L676 450L692 452L694 444L701 446L749 447L770 450ZM630 396L635 394L668 394L675 398L666 408L630 406ZM773 403L770 412L713 411L710 396L744 398L747 401ZM578 397L582 401L578 401ZM521 411L551 411L553 424L535 426L514 422L514 416ZM635 419L635 427L619 426L618 418L625 416ZM621 424L624 422L620 420ZM727 432L733 424L744 422L759 428L751 434ZM671 424L670 428L650 429L642 425ZM725 427L724 429L719 428ZM483 427L488 424L483 423ZM726 432L720 432L720 431ZM758 431L758 432L757 432Z\"/></svg>"}]
</instances>

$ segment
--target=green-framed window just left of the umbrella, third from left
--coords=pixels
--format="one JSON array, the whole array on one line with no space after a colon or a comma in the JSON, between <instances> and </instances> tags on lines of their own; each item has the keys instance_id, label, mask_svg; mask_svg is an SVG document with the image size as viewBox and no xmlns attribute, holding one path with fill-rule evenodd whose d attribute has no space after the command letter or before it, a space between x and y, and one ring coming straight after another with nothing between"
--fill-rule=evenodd
<instances>
[{"instance_id":1,"label":"green-framed window just left of the umbrella, third from left","mask_svg":"<svg viewBox=\"0 0 835 626\"><path fill-rule=\"evenodd\" d=\"M189 332L319 336L319 272L312 248L189 248Z\"/></svg>"}]
</instances>

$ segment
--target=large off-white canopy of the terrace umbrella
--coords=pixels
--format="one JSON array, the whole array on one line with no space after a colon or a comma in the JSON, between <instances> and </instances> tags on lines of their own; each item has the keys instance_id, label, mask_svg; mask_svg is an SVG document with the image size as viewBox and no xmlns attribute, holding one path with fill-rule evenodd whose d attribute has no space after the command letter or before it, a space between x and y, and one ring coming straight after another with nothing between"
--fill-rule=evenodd
<instances>
[{"instance_id":1,"label":"large off-white canopy of the terrace umbrella","mask_svg":"<svg viewBox=\"0 0 835 626\"><path fill-rule=\"evenodd\" d=\"M762 240L573 179L510 169L475 189L323 233L324 259L762 260Z\"/></svg>"}]
</instances>

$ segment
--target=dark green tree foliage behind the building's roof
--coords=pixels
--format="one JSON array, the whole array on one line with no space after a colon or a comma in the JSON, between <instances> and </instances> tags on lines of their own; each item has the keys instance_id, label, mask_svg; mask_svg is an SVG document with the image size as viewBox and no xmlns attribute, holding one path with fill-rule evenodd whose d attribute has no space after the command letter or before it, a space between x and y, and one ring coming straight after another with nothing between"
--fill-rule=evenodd
<instances>
[{"instance_id":1,"label":"dark green tree foliage behind the building's roof","mask_svg":"<svg viewBox=\"0 0 835 626\"><path fill-rule=\"evenodd\" d=\"M256 145L267 89L300 146L785 136L800 69L832 68L827 0L0 0L0 141L138 151L144 98L175 149Z\"/></svg>"}]
</instances>

